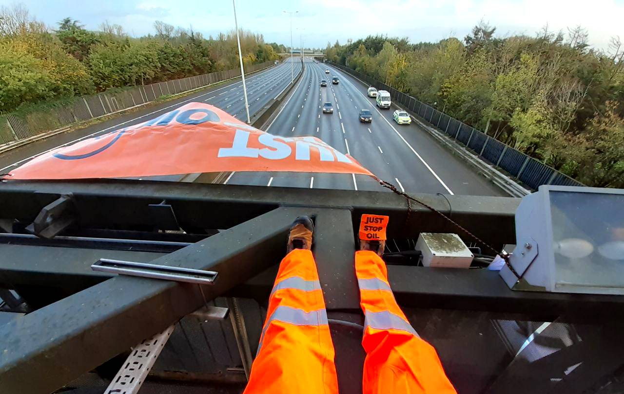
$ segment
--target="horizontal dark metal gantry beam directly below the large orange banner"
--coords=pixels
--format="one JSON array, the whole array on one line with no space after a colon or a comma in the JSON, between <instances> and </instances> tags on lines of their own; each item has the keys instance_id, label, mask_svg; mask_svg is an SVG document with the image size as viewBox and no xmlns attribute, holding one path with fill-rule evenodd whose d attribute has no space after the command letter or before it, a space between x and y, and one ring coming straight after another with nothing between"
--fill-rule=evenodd
<instances>
[{"instance_id":1,"label":"horizontal dark metal gantry beam directly below the large orange banner","mask_svg":"<svg viewBox=\"0 0 624 394\"><path fill-rule=\"evenodd\" d=\"M407 221L406 199L390 192L295 189L218 184L186 184L125 179L90 181L11 181L0 184L0 219L32 222L42 207L71 192L80 227L158 224L150 204L167 200L183 227L230 228L280 206L304 206L391 215L389 237L417 238L421 231L457 232L431 210L412 202ZM482 195L412 194L469 228L493 245L515 242L514 213L520 199Z\"/></svg>"}]
</instances>

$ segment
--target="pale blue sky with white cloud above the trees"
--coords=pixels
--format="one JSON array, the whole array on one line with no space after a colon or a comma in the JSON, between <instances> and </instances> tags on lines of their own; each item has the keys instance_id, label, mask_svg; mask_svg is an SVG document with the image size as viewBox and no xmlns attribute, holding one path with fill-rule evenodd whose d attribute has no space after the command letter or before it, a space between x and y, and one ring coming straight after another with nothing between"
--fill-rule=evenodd
<instances>
[{"instance_id":1,"label":"pale blue sky with white cloud above the trees","mask_svg":"<svg viewBox=\"0 0 624 394\"><path fill-rule=\"evenodd\" d=\"M131 35L153 32L160 19L215 35L234 26L229 0L24 0L37 19L55 26L70 16L87 29L105 20L125 27ZM10 5L13 1L0 0ZM545 24L551 30L581 25L590 44L607 49L610 37L624 40L624 0L592 2L501 0L237 0L238 23L243 29L264 34L267 42L290 42L290 20L284 10L299 11L293 17L293 45L324 47L328 41L358 39L369 34L409 37L412 42L437 41L449 35L463 38L481 19L497 27L500 36L533 35ZM301 29L301 30L296 30Z\"/></svg>"}]
</instances>

